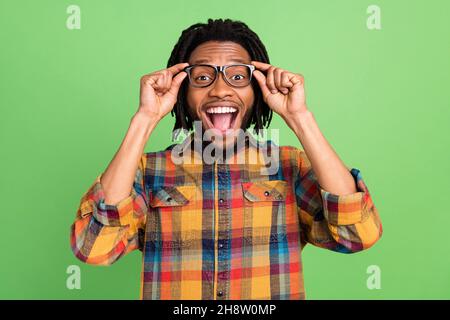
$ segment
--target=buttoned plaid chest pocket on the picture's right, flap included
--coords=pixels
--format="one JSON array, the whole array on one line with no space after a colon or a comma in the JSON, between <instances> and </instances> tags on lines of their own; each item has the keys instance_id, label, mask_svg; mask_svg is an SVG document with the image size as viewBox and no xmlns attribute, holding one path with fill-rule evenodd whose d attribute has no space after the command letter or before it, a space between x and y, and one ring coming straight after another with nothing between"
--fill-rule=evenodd
<instances>
[{"instance_id":1,"label":"buttoned plaid chest pocket on the picture's right, flap included","mask_svg":"<svg viewBox=\"0 0 450 320\"><path fill-rule=\"evenodd\" d=\"M286 240L287 182L242 183L244 245L268 245Z\"/></svg>"}]
</instances>

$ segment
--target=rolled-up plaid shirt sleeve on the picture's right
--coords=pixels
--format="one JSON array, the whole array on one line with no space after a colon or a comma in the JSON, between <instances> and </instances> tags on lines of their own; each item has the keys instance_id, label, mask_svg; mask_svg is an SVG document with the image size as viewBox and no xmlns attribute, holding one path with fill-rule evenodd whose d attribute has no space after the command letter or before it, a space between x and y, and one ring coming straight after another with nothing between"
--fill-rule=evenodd
<instances>
[{"instance_id":1,"label":"rolled-up plaid shirt sleeve on the picture's right","mask_svg":"<svg viewBox=\"0 0 450 320\"><path fill-rule=\"evenodd\" d=\"M354 253L378 241L383 232L381 220L358 169L349 169L357 191L336 195L320 186L303 150L299 150L298 165L295 194L303 244Z\"/></svg>"}]
</instances>

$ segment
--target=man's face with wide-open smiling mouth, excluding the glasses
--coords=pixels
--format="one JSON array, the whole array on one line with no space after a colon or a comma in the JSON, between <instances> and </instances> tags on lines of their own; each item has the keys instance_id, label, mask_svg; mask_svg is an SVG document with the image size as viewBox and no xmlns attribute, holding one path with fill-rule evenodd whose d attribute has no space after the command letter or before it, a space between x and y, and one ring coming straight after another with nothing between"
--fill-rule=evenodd
<instances>
[{"instance_id":1,"label":"man's face with wide-open smiling mouth, excluding the glasses","mask_svg":"<svg viewBox=\"0 0 450 320\"><path fill-rule=\"evenodd\" d=\"M241 45L230 41L208 41L191 53L189 65L211 64L217 66L236 63L250 64L251 58ZM203 129L213 129L227 145L234 141L237 129L244 128L255 100L251 84L233 87L219 73L216 80L205 88L189 85L187 102L194 120L201 120ZM231 130L230 130L231 129ZM228 138L227 138L228 137Z\"/></svg>"}]
</instances>

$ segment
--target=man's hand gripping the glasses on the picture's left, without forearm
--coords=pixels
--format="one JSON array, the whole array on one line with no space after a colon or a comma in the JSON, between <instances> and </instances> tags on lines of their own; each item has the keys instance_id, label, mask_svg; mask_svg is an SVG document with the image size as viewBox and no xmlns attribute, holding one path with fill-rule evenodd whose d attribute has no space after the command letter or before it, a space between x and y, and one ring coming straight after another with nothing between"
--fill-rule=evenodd
<instances>
[{"instance_id":1,"label":"man's hand gripping the glasses on the picture's left, without forearm","mask_svg":"<svg viewBox=\"0 0 450 320\"><path fill-rule=\"evenodd\" d=\"M146 74L141 78L139 113L157 121L168 114L177 101L178 90L187 76L183 71L188 63L178 63L170 68Z\"/></svg>"}]
</instances>

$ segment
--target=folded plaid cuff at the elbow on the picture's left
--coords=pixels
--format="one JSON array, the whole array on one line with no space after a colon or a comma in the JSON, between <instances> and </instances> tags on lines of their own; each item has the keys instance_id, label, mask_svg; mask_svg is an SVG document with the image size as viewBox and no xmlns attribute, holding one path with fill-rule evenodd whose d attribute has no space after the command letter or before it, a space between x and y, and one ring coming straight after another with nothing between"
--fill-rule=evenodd
<instances>
[{"instance_id":1,"label":"folded plaid cuff at the elbow on the picture's left","mask_svg":"<svg viewBox=\"0 0 450 320\"><path fill-rule=\"evenodd\" d=\"M81 200L81 217L84 218L92 214L98 222L111 227L132 224L133 205L136 197L134 189L132 189L130 196L122 199L117 204L105 204L105 194L100 183L101 176L102 174L95 179Z\"/></svg>"}]
</instances>

